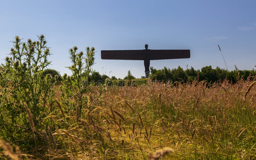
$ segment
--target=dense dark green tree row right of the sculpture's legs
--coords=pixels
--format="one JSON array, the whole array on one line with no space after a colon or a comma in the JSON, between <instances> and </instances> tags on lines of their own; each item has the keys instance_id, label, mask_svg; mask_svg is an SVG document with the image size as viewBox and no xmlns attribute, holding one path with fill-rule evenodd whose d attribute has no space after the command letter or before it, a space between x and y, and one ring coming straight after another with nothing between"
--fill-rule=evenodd
<instances>
[{"instance_id":1,"label":"dense dark green tree row right of the sculpture's legs","mask_svg":"<svg viewBox=\"0 0 256 160\"><path fill-rule=\"evenodd\" d=\"M251 76L251 77L249 77ZM201 69L195 70L193 67L187 68L183 70L180 66L178 68L166 68L156 69L150 67L150 77L152 79L156 78L160 81L171 81L180 82L184 81L194 81L195 79L199 81L207 80L209 83L214 83L218 80L223 81L224 79L229 80L232 83L235 83L238 79L247 79L248 77L253 79L256 76L256 71L252 70L239 70L236 68L235 70L228 71L227 69L223 69L220 67L216 67L215 69L212 66L205 66Z\"/></svg>"}]
</instances>

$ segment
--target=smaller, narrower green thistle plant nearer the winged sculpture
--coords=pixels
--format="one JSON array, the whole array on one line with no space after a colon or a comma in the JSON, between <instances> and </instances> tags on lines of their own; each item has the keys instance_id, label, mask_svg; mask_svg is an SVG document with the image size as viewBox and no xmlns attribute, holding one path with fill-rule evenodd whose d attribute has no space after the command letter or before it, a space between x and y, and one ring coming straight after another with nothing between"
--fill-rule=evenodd
<instances>
[{"instance_id":1,"label":"smaller, narrower green thistle plant nearer the winged sculpture","mask_svg":"<svg viewBox=\"0 0 256 160\"><path fill-rule=\"evenodd\" d=\"M62 100L67 110L71 115L76 110L77 118L81 115L81 109L87 106L87 97L84 96L89 91L88 76L93 72L92 65L94 64L94 47L85 49L84 52L78 52L78 47L74 46L69 49L70 60L72 66L67 67L72 71L72 76L64 74L62 77L62 85L60 87L62 93ZM70 97L74 96L75 102L70 101Z\"/></svg>"}]
</instances>

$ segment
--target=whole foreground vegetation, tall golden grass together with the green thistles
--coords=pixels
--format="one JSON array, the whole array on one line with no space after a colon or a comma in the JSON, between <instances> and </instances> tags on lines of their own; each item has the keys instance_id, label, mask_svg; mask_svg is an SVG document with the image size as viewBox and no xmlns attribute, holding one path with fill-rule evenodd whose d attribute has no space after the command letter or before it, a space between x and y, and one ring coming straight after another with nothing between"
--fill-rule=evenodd
<instances>
[{"instance_id":1,"label":"whole foreground vegetation, tall golden grass together with the green thistles","mask_svg":"<svg viewBox=\"0 0 256 160\"><path fill-rule=\"evenodd\" d=\"M93 47L69 49L60 78L43 74L51 53L37 37L16 36L0 68L0 159L254 159L255 77L95 86Z\"/></svg>"}]
</instances>

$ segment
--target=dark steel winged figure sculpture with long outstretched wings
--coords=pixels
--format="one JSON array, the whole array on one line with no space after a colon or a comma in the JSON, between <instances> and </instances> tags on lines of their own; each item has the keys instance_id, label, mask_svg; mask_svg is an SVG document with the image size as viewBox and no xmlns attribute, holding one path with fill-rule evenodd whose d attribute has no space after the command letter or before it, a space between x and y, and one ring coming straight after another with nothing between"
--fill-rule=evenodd
<instances>
[{"instance_id":1,"label":"dark steel winged figure sculpture with long outstretched wings","mask_svg":"<svg viewBox=\"0 0 256 160\"><path fill-rule=\"evenodd\" d=\"M190 50L105 50L101 51L102 60L144 60L146 77L149 75L150 60L190 58Z\"/></svg>"}]
</instances>

